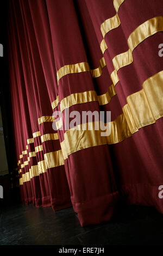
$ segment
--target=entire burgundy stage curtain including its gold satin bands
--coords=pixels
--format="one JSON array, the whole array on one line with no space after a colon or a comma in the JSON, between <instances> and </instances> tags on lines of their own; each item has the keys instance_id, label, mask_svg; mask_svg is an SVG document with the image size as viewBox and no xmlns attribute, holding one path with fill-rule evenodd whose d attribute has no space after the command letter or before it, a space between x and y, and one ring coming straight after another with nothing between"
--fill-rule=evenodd
<instances>
[{"instance_id":1,"label":"entire burgundy stage curtain including its gold satin bands","mask_svg":"<svg viewBox=\"0 0 163 256\"><path fill-rule=\"evenodd\" d=\"M73 206L80 224L163 185L163 2L10 0L9 71L21 200ZM53 112L111 111L111 133L53 129ZM72 117L70 118L70 121ZM77 124L80 127L80 124Z\"/></svg>"}]
</instances>

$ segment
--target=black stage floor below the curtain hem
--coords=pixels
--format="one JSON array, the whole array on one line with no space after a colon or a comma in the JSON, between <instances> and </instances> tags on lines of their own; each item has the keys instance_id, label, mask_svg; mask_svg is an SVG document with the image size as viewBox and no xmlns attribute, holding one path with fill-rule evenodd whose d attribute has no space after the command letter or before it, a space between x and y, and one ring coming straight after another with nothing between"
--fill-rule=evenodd
<instances>
[{"instance_id":1,"label":"black stage floor below the curtain hem","mask_svg":"<svg viewBox=\"0 0 163 256\"><path fill-rule=\"evenodd\" d=\"M72 208L12 205L1 209L0 245L163 245L163 216L126 206L109 221L82 228Z\"/></svg>"}]
</instances>

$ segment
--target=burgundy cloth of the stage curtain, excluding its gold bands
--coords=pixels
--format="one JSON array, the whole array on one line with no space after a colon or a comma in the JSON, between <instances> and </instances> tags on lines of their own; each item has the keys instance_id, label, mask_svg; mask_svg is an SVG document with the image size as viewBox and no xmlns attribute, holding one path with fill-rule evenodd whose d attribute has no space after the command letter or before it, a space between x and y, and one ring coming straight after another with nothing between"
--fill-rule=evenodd
<instances>
[{"instance_id":1,"label":"burgundy cloth of the stage curtain, excluding its gold bands","mask_svg":"<svg viewBox=\"0 0 163 256\"><path fill-rule=\"evenodd\" d=\"M30 152L42 145L43 150L31 157L28 166L44 160L44 154L61 149L65 130L58 131L59 140L41 143L35 137L56 133L51 122L39 125L38 118L51 116L51 103L73 93L95 90L97 95L111 86L112 58L128 50L127 39L143 22L162 15L159 0L126 0L118 10L121 25L105 35L108 49L102 75L92 78L90 72L69 74L57 83L57 71L64 65L88 62L91 69L103 57L101 24L116 14L111 0L10 0L9 1L9 68L17 162L28 160ZM142 83L162 70L163 58L158 55L162 32L150 36L133 52L134 62L118 71L117 95L99 106L87 102L70 107L70 111L111 111L111 120L122 114L127 96L142 89ZM56 110L59 110L58 106ZM65 111L63 113L65 115ZM162 175L162 119L141 128L130 138L113 145L79 150L68 156L62 166L47 169L20 186L22 201L36 206L52 206L60 210L73 206L81 225L110 220L118 199L129 204L155 206L163 213L163 200L158 197Z\"/></svg>"}]
</instances>

